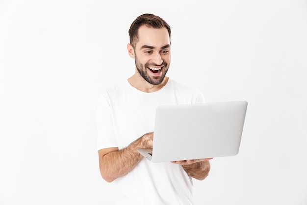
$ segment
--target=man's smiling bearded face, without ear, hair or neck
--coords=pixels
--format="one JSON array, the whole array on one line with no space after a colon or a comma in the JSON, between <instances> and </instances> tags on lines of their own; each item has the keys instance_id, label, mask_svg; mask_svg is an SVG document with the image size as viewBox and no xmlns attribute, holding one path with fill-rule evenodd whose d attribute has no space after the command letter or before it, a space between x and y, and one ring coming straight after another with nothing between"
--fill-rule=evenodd
<instances>
[{"instance_id":1,"label":"man's smiling bearded face, without ear, hair or neck","mask_svg":"<svg viewBox=\"0 0 307 205\"><path fill-rule=\"evenodd\" d=\"M171 61L171 43L166 28L141 26L139 40L135 45L135 65L140 75L150 84L158 85L164 80Z\"/></svg>"}]
</instances>

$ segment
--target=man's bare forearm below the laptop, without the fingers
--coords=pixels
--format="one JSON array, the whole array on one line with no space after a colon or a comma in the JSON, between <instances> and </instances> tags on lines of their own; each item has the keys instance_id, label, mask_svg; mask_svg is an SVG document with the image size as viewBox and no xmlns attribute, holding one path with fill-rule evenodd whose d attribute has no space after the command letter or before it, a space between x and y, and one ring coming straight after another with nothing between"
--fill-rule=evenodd
<instances>
[{"instance_id":1,"label":"man's bare forearm below the laptop, without the fingers","mask_svg":"<svg viewBox=\"0 0 307 205\"><path fill-rule=\"evenodd\" d=\"M198 180L204 180L209 175L210 162L205 160L190 165L182 165L182 168L189 176Z\"/></svg>"}]
</instances>

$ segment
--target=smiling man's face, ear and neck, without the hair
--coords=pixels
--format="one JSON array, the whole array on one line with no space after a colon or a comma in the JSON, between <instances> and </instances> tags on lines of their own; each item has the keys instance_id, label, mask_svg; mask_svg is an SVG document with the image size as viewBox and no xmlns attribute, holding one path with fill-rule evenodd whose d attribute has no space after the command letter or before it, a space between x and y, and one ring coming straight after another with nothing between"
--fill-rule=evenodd
<instances>
[{"instance_id":1,"label":"smiling man's face, ear and neck, without the hair","mask_svg":"<svg viewBox=\"0 0 307 205\"><path fill-rule=\"evenodd\" d=\"M128 53L135 59L136 66L135 75L128 81L132 86L137 84L142 87L144 90L134 86L141 91L157 91L168 80L165 75L171 61L170 35L165 27L152 28L142 25L137 31L138 41L132 40L132 45L128 44Z\"/></svg>"}]
</instances>

